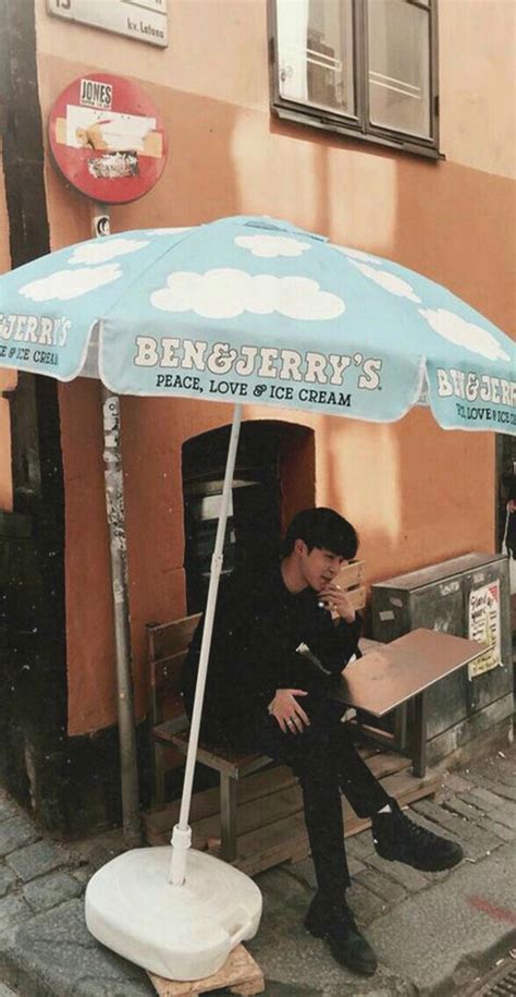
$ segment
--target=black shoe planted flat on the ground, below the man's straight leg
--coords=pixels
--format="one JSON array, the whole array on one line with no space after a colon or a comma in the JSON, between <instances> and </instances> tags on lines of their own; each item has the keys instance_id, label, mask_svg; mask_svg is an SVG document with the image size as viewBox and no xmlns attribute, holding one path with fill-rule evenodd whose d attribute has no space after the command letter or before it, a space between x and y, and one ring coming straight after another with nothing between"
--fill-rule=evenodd
<instances>
[{"instance_id":1,"label":"black shoe planted flat on the ground, below the man's straight leg","mask_svg":"<svg viewBox=\"0 0 516 997\"><path fill-rule=\"evenodd\" d=\"M323 938L334 959L361 976L372 976L378 962L371 946L360 934L346 902L332 912L320 893L316 893L305 917L305 927L316 938Z\"/></svg>"}]
</instances>

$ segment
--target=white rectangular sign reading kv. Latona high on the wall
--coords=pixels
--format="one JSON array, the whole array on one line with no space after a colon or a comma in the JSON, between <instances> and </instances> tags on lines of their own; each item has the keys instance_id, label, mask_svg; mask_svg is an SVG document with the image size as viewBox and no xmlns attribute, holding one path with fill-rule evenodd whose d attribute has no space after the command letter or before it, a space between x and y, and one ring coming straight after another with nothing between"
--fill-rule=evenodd
<instances>
[{"instance_id":1,"label":"white rectangular sign reading kv. Latona high on the wall","mask_svg":"<svg viewBox=\"0 0 516 997\"><path fill-rule=\"evenodd\" d=\"M165 48L167 0L47 0L49 14Z\"/></svg>"}]
</instances>

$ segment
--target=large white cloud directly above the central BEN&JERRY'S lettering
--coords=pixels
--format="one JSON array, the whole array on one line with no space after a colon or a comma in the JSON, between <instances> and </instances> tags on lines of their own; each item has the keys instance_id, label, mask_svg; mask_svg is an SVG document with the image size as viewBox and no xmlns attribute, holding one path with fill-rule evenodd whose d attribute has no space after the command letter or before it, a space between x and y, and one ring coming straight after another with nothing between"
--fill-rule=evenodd
<instances>
[{"instance_id":1,"label":"large white cloud directly above the central BEN&JERRY'S lettering","mask_svg":"<svg viewBox=\"0 0 516 997\"><path fill-rule=\"evenodd\" d=\"M243 312L308 321L336 318L345 311L342 297L321 291L307 277L253 277L245 270L217 268L206 273L175 271L165 288L150 295L151 304L163 312L188 312L206 318L235 318Z\"/></svg>"}]
</instances>

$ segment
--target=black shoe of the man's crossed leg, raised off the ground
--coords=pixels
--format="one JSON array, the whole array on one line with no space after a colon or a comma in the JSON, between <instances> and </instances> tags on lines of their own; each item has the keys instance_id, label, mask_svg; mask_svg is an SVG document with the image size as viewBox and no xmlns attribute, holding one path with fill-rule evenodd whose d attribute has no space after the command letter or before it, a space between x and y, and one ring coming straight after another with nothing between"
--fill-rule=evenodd
<instances>
[{"instance_id":1,"label":"black shoe of the man's crossed leg, raised off the ground","mask_svg":"<svg viewBox=\"0 0 516 997\"><path fill-rule=\"evenodd\" d=\"M427 873L453 868L463 860L463 849L455 841L415 824L395 800L390 801L390 806L391 814L374 814L371 820L374 848L382 859L405 862Z\"/></svg>"}]
</instances>

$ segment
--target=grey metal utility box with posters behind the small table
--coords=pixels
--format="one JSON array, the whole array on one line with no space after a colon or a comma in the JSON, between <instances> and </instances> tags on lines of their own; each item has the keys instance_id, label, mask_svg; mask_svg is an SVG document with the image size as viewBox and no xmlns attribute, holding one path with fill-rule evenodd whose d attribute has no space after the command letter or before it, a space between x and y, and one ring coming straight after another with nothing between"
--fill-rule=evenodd
<instances>
[{"instance_id":1,"label":"grey metal utility box with posters behind the small table","mask_svg":"<svg viewBox=\"0 0 516 997\"><path fill-rule=\"evenodd\" d=\"M377 641L389 643L425 627L494 644L479 666L462 668L428 690L427 739L438 739L431 761L509 716L513 676L505 556L468 554L380 582L371 592ZM479 718L486 710L489 713ZM393 726L402 729L404 725L397 717Z\"/></svg>"}]
</instances>

